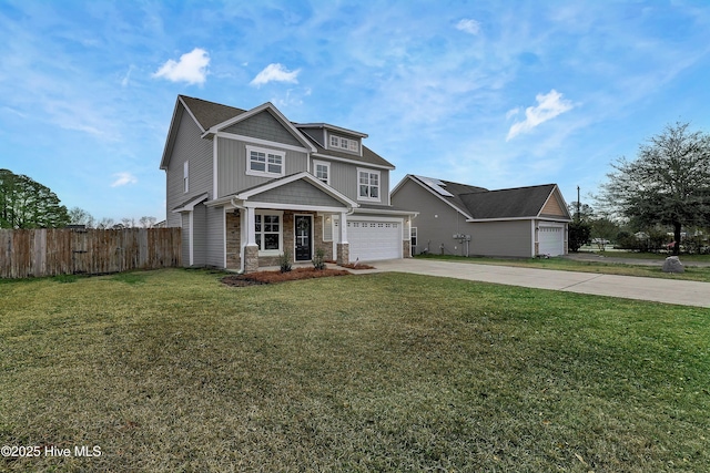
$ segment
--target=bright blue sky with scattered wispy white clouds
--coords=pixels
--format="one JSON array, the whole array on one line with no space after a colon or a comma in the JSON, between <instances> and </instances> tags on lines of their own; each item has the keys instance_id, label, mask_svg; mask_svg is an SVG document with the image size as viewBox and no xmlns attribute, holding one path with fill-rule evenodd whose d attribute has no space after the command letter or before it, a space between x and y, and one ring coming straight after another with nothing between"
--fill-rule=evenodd
<instances>
[{"instance_id":1,"label":"bright blue sky with scattered wispy white clouds","mask_svg":"<svg viewBox=\"0 0 710 473\"><path fill-rule=\"evenodd\" d=\"M405 174L567 202L669 123L710 131L710 3L0 0L0 167L165 216L178 94L367 133Z\"/></svg>"}]
</instances>

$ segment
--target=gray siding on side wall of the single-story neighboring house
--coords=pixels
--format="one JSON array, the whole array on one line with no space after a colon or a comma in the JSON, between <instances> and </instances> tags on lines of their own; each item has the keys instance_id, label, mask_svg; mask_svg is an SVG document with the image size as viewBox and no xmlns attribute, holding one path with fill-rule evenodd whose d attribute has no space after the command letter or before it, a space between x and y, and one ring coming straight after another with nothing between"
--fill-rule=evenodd
<instances>
[{"instance_id":1,"label":"gray siding on side wall of the single-story neighboring house","mask_svg":"<svg viewBox=\"0 0 710 473\"><path fill-rule=\"evenodd\" d=\"M466 243L453 237L464 234L471 236L469 256L534 256L530 220L468 223L466 216L410 179L392 196L392 205L419 212L412 222L417 227L417 255L428 248L433 254L465 256Z\"/></svg>"}]
</instances>

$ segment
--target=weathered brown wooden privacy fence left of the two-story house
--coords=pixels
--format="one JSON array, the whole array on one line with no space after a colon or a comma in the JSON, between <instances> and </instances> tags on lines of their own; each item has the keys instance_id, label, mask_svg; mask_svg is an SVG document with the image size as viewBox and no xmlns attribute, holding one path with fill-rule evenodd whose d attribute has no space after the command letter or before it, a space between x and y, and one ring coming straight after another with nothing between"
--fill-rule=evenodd
<instances>
[{"instance_id":1,"label":"weathered brown wooden privacy fence left of the two-story house","mask_svg":"<svg viewBox=\"0 0 710 473\"><path fill-rule=\"evenodd\" d=\"M180 228L0 229L0 278L181 266Z\"/></svg>"}]
</instances>

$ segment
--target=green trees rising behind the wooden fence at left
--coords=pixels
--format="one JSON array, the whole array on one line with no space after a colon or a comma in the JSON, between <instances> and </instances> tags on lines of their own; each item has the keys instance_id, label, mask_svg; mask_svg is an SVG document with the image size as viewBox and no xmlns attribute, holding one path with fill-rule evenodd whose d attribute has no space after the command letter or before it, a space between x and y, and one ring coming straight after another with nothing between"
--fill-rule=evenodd
<instances>
[{"instance_id":1,"label":"green trees rising behind the wooden fence at left","mask_svg":"<svg viewBox=\"0 0 710 473\"><path fill-rule=\"evenodd\" d=\"M23 174L0 169L0 228L63 228L84 225L87 228L151 228L155 217L95 219L87 210L67 209L49 187Z\"/></svg>"}]
</instances>

